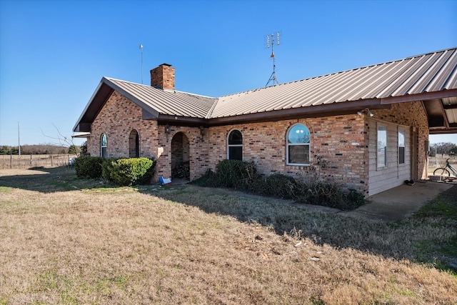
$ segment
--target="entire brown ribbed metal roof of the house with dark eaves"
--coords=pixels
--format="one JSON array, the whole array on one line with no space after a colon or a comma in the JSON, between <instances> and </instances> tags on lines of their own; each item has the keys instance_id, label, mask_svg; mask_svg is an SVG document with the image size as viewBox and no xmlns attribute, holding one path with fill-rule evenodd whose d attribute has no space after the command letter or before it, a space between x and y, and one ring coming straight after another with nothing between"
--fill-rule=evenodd
<instances>
[{"instance_id":1,"label":"entire brown ribbed metal roof of the house with dark eaves","mask_svg":"<svg viewBox=\"0 0 457 305\"><path fill-rule=\"evenodd\" d=\"M366 106L423 101L431 134L457 133L457 48L217 99L104 77L74 131L90 131L113 90L141 106L144 119L206 125L356 113Z\"/></svg>"}]
</instances>

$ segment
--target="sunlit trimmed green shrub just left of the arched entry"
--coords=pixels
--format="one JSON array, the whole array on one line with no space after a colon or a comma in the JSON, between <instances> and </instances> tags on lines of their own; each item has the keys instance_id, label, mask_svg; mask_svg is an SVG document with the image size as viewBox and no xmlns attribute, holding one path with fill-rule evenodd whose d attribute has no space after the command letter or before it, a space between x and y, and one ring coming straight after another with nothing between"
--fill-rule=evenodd
<instances>
[{"instance_id":1,"label":"sunlit trimmed green shrub just left of the arched entry","mask_svg":"<svg viewBox=\"0 0 457 305\"><path fill-rule=\"evenodd\" d=\"M155 165L148 158L106 159L102 176L119 185L148 184L154 175Z\"/></svg>"}]
</instances>

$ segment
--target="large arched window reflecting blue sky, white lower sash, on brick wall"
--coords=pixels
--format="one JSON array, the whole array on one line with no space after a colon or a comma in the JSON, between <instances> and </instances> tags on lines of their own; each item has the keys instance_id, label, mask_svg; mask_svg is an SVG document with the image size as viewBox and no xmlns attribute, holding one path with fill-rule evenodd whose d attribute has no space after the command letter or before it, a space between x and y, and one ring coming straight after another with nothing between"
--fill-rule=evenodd
<instances>
[{"instance_id":1,"label":"large arched window reflecting blue sky, white lower sash, on brick wall","mask_svg":"<svg viewBox=\"0 0 457 305\"><path fill-rule=\"evenodd\" d=\"M303 124L295 124L287 132L287 164L309 165L309 130Z\"/></svg>"}]
</instances>

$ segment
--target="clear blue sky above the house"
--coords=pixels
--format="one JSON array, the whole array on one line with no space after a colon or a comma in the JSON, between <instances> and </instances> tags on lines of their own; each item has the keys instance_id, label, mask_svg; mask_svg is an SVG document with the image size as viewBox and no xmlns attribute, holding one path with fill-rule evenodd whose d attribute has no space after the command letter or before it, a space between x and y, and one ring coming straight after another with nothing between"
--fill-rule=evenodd
<instances>
[{"instance_id":1,"label":"clear blue sky above the house","mask_svg":"<svg viewBox=\"0 0 457 305\"><path fill-rule=\"evenodd\" d=\"M457 46L457 1L0 0L0 145L70 137L102 76L222 96ZM76 140L81 144L83 140ZM431 142L457 144L457 135Z\"/></svg>"}]
</instances>

